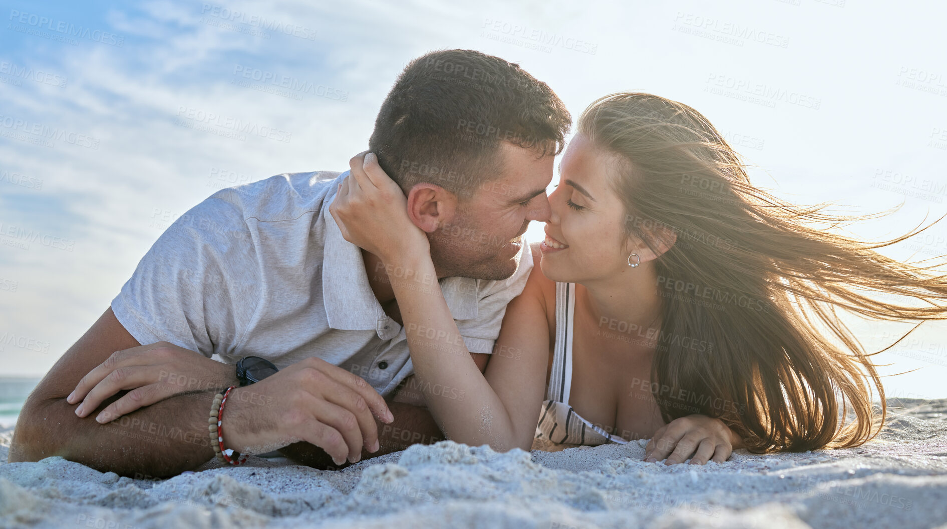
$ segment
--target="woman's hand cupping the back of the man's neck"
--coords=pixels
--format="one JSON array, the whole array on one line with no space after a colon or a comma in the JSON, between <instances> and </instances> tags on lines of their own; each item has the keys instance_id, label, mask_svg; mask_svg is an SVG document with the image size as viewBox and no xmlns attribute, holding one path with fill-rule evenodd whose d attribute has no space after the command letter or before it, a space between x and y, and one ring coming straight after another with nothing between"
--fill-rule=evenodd
<instances>
[{"instance_id":1,"label":"woman's hand cupping the back of the man's neck","mask_svg":"<svg viewBox=\"0 0 947 529\"><path fill-rule=\"evenodd\" d=\"M427 235L411 221L402 188L378 165L373 152L348 161L351 172L339 185L329 212L342 237L386 263L430 253Z\"/></svg>"}]
</instances>

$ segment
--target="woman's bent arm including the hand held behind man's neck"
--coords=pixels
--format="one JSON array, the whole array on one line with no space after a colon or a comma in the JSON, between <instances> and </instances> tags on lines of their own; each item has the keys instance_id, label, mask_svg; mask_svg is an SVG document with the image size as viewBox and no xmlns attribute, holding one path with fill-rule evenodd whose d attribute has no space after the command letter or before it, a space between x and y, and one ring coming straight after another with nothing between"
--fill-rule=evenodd
<instances>
[{"instance_id":1,"label":"woman's bent arm including the hand held behind man's neck","mask_svg":"<svg viewBox=\"0 0 947 529\"><path fill-rule=\"evenodd\" d=\"M535 281L509 303L485 378L444 301L426 236L373 155L364 168L352 164L330 212L348 241L404 271L391 278L391 287L418 387L441 431L472 446L529 450L548 361L545 306L542 291L530 286Z\"/></svg>"}]
</instances>

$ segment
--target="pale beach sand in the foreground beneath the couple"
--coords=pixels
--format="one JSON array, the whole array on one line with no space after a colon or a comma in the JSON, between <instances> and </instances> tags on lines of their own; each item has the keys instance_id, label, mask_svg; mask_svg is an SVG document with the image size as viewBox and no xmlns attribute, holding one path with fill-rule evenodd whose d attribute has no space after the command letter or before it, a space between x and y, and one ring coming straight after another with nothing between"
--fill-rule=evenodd
<instances>
[{"instance_id":1,"label":"pale beach sand in the foreground beneath the couple","mask_svg":"<svg viewBox=\"0 0 947 529\"><path fill-rule=\"evenodd\" d=\"M60 457L2 463L0 527L947 528L947 399L889 405L905 414L862 447L735 450L706 466L644 463L645 441L506 453L443 441L334 472L254 457L162 481Z\"/></svg>"}]
</instances>

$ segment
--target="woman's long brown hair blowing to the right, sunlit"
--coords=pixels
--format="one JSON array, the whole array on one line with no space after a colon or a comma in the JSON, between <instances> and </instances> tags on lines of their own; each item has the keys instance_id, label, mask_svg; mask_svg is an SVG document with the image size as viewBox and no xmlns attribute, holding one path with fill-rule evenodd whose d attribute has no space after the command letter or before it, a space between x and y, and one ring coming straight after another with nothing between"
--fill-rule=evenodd
<instances>
[{"instance_id":1,"label":"woman's long brown hair blowing to the right, sunlit","mask_svg":"<svg viewBox=\"0 0 947 529\"><path fill-rule=\"evenodd\" d=\"M613 185L628 235L652 249L662 234L676 235L655 261L663 299L652 396L665 422L720 417L757 453L858 446L880 432L884 387L868 358L877 353L863 350L836 309L879 320L947 319L947 280L936 267L875 251L917 232L869 243L815 227L866 217L828 215L824 206L797 206L754 187L706 117L664 97L600 97L578 132L625 162ZM927 305L901 306L872 292ZM706 345L695 347L697 339Z\"/></svg>"}]
</instances>

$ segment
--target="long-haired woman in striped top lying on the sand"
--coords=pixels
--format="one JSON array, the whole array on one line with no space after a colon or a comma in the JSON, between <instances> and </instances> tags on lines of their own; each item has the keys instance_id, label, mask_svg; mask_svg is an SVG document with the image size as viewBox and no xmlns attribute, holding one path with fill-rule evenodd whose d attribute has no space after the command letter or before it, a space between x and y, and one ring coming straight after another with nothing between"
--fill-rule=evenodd
<instances>
[{"instance_id":1,"label":"long-haired woman in striped top lying on the sand","mask_svg":"<svg viewBox=\"0 0 947 529\"><path fill-rule=\"evenodd\" d=\"M371 154L351 176L339 195L348 215L336 216L346 238L436 277L398 185ZM651 438L646 459L667 464L723 462L741 447L858 446L881 429L884 388L835 310L947 318L944 276L875 252L914 234L879 244L813 228L848 219L750 185L739 155L682 103L639 93L595 101L561 177L541 262L497 340L517 354L494 354L480 376L462 341L444 354L446 341L408 335L424 385L466 392L425 396L457 442L529 450L534 435L546 446ZM395 287L404 325L456 336L437 282L408 283Z\"/></svg>"}]
</instances>

